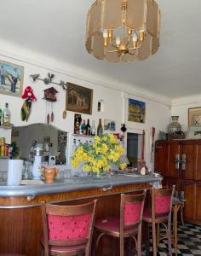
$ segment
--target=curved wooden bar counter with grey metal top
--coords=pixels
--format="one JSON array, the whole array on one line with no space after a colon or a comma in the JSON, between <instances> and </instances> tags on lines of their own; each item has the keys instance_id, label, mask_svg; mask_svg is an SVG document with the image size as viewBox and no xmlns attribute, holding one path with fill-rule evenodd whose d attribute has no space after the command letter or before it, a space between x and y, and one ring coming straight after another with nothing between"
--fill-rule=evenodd
<instances>
[{"instance_id":1,"label":"curved wooden bar counter with grey metal top","mask_svg":"<svg viewBox=\"0 0 201 256\"><path fill-rule=\"evenodd\" d=\"M114 175L95 179L72 177L43 185L0 186L0 253L41 255L40 237L43 230L41 201L73 204L97 198L95 218L119 216L120 194L150 189L162 177L152 175ZM105 240L99 255L111 255Z\"/></svg>"}]
</instances>

